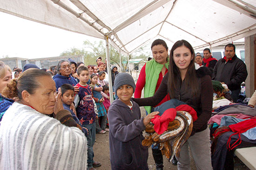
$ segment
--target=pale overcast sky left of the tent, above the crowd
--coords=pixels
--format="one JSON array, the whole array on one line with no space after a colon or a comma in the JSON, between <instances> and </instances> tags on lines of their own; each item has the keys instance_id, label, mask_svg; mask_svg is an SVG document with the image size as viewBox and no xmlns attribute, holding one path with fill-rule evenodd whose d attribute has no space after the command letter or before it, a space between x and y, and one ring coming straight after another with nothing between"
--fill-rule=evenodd
<instances>
[{"instance_id":1,"label":"pale overcast sky left of the tent, above the crowd","mask_svg":"<svg viewBox=\"0 0 256 170\"><path fill-rule=\"evenodd\" d=\"M57 57L72 47L82 48L86 39L101 40L2 12L0 23L0 58Z\"/></svg>"}]
</instances>

